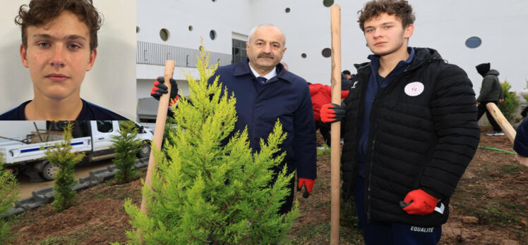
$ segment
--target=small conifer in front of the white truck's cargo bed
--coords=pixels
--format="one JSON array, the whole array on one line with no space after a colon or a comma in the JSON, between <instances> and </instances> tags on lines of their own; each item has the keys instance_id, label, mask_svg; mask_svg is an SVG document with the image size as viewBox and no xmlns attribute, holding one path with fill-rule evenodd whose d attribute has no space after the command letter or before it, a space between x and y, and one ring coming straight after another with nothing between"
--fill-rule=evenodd
<instances>
[{"instance_id":1,"label":"small conifer in front of the white truck's cargo bed","mask_svg":"<svg viewBox=\"0 0 528 245\"><path fill-rule=\"evenodd\" d=\"M63 140L50 146L44 152L44 158L49 163L59 167L55 175L53 190L55 191L54 201L52 205L55 211L60 212L73 205L76 197L76 191L73 187L77 183L75 178L74 167L77 163L83 160L84 153L71 152L71 130L72 123L64 127Z\"/></svg>"}]
</instances>

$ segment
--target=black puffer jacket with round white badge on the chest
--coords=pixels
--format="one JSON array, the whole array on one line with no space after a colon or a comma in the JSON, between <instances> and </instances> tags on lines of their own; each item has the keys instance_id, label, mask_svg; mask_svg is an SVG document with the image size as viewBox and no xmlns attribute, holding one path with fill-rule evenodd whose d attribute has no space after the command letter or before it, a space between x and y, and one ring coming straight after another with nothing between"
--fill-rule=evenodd
<instances>
[{"instance_id":1,"label":"black puffer jacket with round white badge on the chest","mask_svg":"<svg viewBox=\"0 0 528 245\"><path fill-rule=\"evenodd\" d=\"M365 168L368 220L436 226L445 223L449 199L479 143L475 93L464 70L445 63L433 49L415 48L414 61L376 94L371 109ZM369 63L356 65L345 100L342 191L356 180L359 129ZM443 214L409 215L399 202L423 189L445 205Z\"/></svg>"}]
</instances>

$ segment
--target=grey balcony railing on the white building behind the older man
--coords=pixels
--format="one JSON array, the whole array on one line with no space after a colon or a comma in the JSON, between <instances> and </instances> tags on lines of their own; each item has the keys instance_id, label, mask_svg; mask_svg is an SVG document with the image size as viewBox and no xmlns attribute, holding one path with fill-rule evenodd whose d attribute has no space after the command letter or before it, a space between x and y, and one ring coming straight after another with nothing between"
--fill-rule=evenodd
<instances>
[{"instance_id":1,"label":"grey balcony railing on the white building behind the older man","mask_svg":"<svg viewBox=\"0 0 528 245\"><path fill-rule=\"evenodd\" d=\"M138 41L136 63L165 65L165 61L172 60L176 62L176 66L195 68L196 56L198 55L198 49ZM210 63L220 61L220 65L230 65L232 63L232 55L209 52L209 61Z\"/></svg>"}]
</instances>

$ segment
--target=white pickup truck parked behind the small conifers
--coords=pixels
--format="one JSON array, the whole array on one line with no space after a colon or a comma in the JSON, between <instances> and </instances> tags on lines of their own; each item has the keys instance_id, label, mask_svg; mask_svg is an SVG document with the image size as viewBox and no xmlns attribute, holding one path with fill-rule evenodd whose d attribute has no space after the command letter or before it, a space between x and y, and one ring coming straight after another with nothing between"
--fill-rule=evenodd
<instances>
[{"instance_id":1,"label":"white pickup truck parked behind the small conifers","mask_svg":"<svg viewBox=\"0 0 528 245\"><path fill-rule=\"evenodd\" d=\"M37 137L32 132L31 137L28 134L22 137L2 137L0 139L0 155L6 163L4 168L12 172L24 173L33 181L54 180L54 175L58 168L52 165L44 158L44 150L41 146L51 146L57 141L45 141L42 138L61 138L62 127L66 122L46 122L48 130L43 135ZM137 125L137 124L136 124ZM35 125L36 127L36 125ZM150 140L152 131L137 125L138 137L143 142L138 153L140 158L147 157L150 154ZM40 130L39 130L40 131ZM37 132L37 134L41 134ZM114 150L112 146L112 135L119 134L119 121L76 121L73 125L71 140L72 151L85 152L83 161L99 161L113 158ZM25 139L25 140L24 140ZM61 140L61 139L59 139Z\"/></svg>"}]
</instances>

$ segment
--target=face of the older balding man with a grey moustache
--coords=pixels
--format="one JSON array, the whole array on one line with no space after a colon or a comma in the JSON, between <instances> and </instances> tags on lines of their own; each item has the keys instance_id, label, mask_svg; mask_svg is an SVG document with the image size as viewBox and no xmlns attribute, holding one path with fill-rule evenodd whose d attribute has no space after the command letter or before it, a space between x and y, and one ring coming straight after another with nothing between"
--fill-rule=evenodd
<instances>
[{"instance_id":1,"label":"face of the older balding man with a grey moustache","mask_svg":"<svg viewBox=\"0 0 528 245\"><path fill-rule=\"evenodd\" d=\"M246 50L251 65L256 70L272 70L280 63L284 51L284 34L273 26L258 27L251 44L246 43Z\"/></svg>"}]
</instances>

